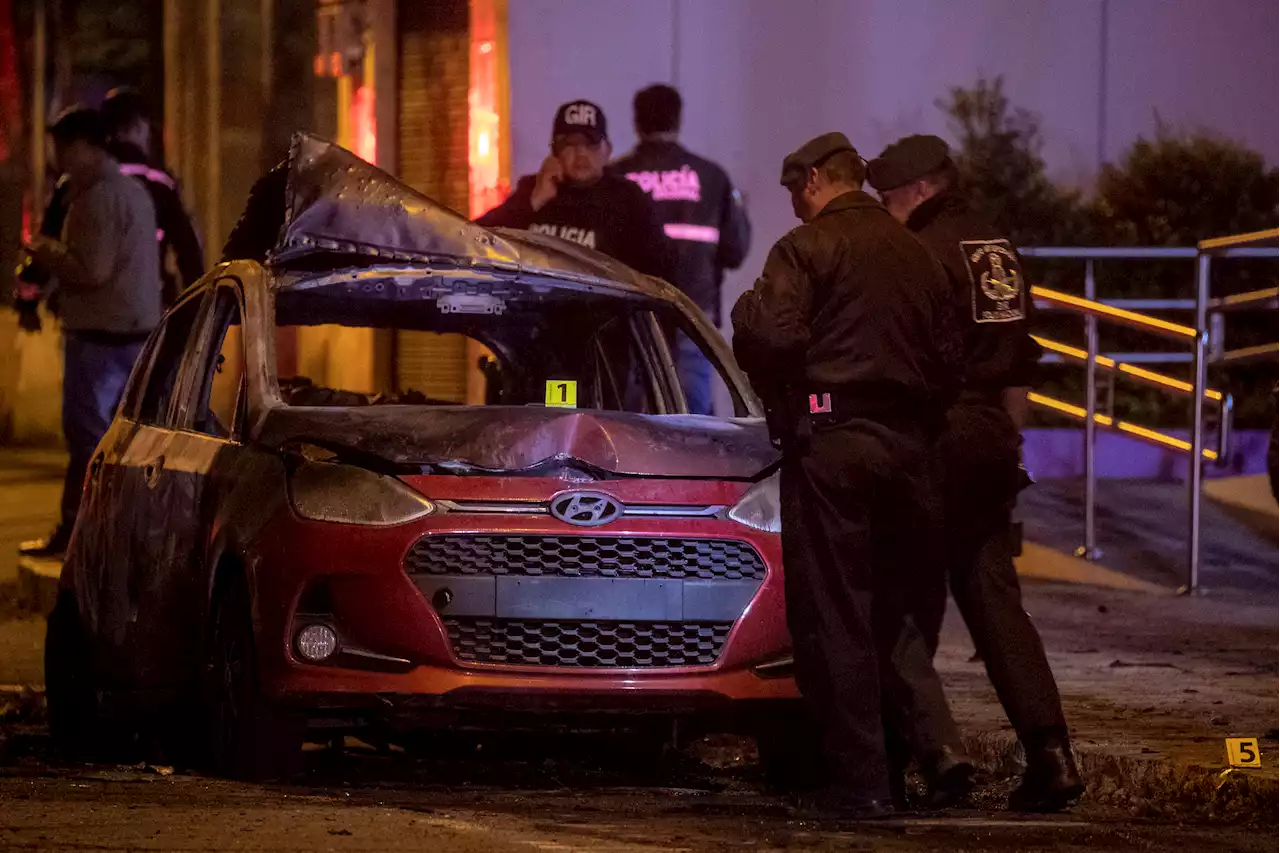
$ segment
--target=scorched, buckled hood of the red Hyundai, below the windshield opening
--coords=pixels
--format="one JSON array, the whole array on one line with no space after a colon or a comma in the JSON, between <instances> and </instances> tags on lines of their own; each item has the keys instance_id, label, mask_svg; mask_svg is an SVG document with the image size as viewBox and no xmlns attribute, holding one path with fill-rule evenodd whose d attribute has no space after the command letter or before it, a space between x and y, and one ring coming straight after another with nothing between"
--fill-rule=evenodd
<instances>
[{"instance_id":1,"label":"scorched, buckled hood of the red Hyundai, below the windshield opening","mask_svg":"<svg viewBox=\"0 0 1280 853\"><path fill-rule=\"evenodd\" d=\"M751 479L778 459L759 419L541 407L279 407L259 439L476 474L576 462L599 475Z\"/></svg>"}]
</instances>

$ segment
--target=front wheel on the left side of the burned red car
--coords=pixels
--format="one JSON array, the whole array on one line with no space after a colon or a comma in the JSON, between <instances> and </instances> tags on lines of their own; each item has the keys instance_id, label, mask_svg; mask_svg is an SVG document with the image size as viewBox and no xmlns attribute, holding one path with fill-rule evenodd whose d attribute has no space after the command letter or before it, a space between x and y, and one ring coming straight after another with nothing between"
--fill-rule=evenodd
<instances>
[{"instance_id":1,"label":"front wheel on the left side of the burned red car","mask_svg":"<svg viewBox=\"0 0 1280 853\"><path fill-rule=\"evenodd\" d=\"M227 583L214 602L209 648L201 690L209 767L221 776L250 780L298 772L302 720L262 697L248 590L239 578Z\"/></svg>"}]
</instances>

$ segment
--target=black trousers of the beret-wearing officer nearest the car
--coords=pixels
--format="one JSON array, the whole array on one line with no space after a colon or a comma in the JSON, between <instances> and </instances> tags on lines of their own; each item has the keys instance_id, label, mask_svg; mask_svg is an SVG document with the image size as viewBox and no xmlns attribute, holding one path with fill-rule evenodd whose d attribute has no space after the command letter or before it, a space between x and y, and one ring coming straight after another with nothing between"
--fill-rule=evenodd
<instances>
[{"instance_id":1,"label":"black trousers of the beret-wearing officer nearest the car","mask_svg":"<svg viewBox=\"0 0 1280 853\"><path fill-rule=\"evenodd\" d=\"M928 754L959 740L911 612L942 584L929 442L847 421L817 430L782 469L782 551L796 683L833 781L887 799L891 739Z\"/></svg>"}]
</instances>

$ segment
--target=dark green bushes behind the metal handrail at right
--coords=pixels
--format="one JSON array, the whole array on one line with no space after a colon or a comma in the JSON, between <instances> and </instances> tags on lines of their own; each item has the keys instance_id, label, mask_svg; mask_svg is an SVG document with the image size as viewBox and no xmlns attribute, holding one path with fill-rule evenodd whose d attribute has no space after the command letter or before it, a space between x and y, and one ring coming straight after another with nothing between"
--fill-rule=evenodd
<instances>
[{"instance_id":1,"label":"dark green bushes behind the metal handrail at right","mask_svg":"<svg viewBox=\"0 0 1280 853\"><path fill-rule=\"evenodd\" d=\"M1275 228L1280 224L1280 170L1262 156L1211 133L1174 133L1161 126L1153 140L1139 138L1116 164L1107 164L1088 199L1057 187L1041 158L1039 119L1014 108L1001 78L980 78L973 87L952 88L938 106L947 113L956 137L956 165L973 204L1020 246L1194 246L1222 234ZM1032 261L1037 283L1080 292L1083 263ZM1274 286L1280 261L1216 261L1215 296ZM1180 261L1111 261L1097 264L1100 297L1189 298L1194 265ZM1187 314L1169 315L1187 323ZM1044 315L1037 328L1047 337L1083 346L1078 319ZM1271 316L1233 315L1226 320L1226 347L1276 339ZM1100 329L1101 348L1112 352L1167 350L1149 334L1126 328ZM1176 347L1175 347L1176 348ZM1189 378L1174 365L1165 373ZM1213 370L1210 380L1236 400L1242 428L1270 423L1274 369L1262 365ZM1066 400L1082 398L1079 366L1046 370L1043 391ZM1115 412L1138 423L1185 426L1185 400L1171 398L1120 380ZM1052 415L1037 423L1061 424Z\"/></svg>"}]
</instances>

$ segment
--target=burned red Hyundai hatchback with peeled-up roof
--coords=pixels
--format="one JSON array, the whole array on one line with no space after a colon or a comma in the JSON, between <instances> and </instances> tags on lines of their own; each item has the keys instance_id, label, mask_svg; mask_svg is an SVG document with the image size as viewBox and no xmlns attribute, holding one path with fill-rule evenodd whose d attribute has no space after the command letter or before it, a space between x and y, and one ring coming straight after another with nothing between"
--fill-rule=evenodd
<instances>
[{"instance_id":1,"label":"burned red Hyundai hatchback with peeled-up roof","mask_svg":"<svg viewBox=\"0 0 1280 853\"><path fill-rule=\"evenodd\" d=\"M483 400L384 375L376 353L424 334L480 353ZM686 414L678 334L735 418ZM768 727L797 693L759 415L671 286L302 137L270 260L168 313L92 462L54 735L152 720L261 775L308 726Z\"/></svg>"}]
</instances>

